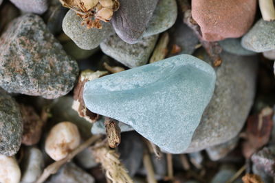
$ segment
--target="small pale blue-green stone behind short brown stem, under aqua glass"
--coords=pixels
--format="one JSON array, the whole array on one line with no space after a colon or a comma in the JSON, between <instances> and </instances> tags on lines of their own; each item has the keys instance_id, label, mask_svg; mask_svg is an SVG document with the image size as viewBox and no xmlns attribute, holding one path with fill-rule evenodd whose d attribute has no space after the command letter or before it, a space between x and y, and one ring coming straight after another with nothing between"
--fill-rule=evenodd
<instances>
[{"instance_id":1,"label":"small pale blue-green stone behind short brown stem, under aqua glass","mask_svg":"<svg viewBox=\"0 0 275 183\"><path fill-rule=\"evenodd\" d=\"M132 131L133 128L130 125L126 125L125 123L122 123L121 121L118 121L118 126L120 127L121 132L129 132ZM91 127L91 133L92 134L106 134L106 128L104 125L104 118L100 118L96 123L93 124Z\"/></svg>"}]
</instances>

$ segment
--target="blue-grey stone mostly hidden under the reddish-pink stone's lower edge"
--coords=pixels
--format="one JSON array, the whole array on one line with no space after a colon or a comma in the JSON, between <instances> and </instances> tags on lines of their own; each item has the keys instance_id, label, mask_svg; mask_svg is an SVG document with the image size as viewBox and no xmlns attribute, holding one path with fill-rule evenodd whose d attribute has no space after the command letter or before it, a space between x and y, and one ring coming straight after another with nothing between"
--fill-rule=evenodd
<instances>
[{"instance_id":1,"label":"blue-grey stone mostly hidden under the reddish-pink stone's lower edge","mask_svg":"<svg viewBox=\"0 0 275 183\"><path fill-rule=\"evenodd\" d=\"M254 51L249 51L248 49L244 49L241 46L241 38L228 38L225 40L219 41L219 45L221 45L224 51L228 53L236 54L238 56L253 56L256 55Z\"/></svg>"}]
</instances>

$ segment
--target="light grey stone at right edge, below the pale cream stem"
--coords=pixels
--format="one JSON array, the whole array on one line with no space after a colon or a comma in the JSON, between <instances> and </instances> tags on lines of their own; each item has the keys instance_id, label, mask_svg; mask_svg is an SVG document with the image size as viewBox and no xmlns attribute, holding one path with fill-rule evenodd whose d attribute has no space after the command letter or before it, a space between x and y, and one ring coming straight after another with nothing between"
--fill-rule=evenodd
<instances>
[{"instance_id":1,"label":"light grey stone at right edge, below the pale cream stem","mask_svg":"<svg viewBox=\"0 0 275 183\"><path fill-rule=\"evenodd\" d=\"M245 49L255 52L270 51L275 49L275 21L260 19L241 39Z\"/></svg>"}]
</instances>

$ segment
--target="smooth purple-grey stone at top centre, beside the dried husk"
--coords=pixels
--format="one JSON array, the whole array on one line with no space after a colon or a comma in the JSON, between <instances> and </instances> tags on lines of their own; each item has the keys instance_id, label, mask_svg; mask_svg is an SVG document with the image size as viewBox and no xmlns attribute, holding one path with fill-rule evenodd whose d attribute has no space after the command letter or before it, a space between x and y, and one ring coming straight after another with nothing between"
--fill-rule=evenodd
<instances>
[{"instance_id":1,"label":"smooth purple-grey stone at top centre, beside the dried husk","mask_svg":"<svg viewBox=\"0 0 275 183\"><path fill-rule=\"evenodd\" d=\"M116 34L129 44L137 43L142 38L156 5L156 0L120 0L120 8L111 19Z\"/></svg>"}]
</instances>

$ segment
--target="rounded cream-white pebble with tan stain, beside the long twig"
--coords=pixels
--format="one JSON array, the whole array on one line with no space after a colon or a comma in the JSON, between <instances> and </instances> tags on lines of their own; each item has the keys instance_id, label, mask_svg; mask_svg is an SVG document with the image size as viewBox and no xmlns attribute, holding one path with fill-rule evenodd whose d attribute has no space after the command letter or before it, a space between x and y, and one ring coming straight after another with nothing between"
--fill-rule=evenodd
<instances>
[{"instance_id":1,"label":"rounded cream-white pebble with tan stain, beside the long twig","mask_svg":"<svg viewBox=\"0 0 275 183\"><path fill-rule=\"evenodd\" d=\"M71 122L61 122L52 127L45 143L46 153L54 160L62 160L80 144L78 128Z\"/></svg>"}]
</instances>

